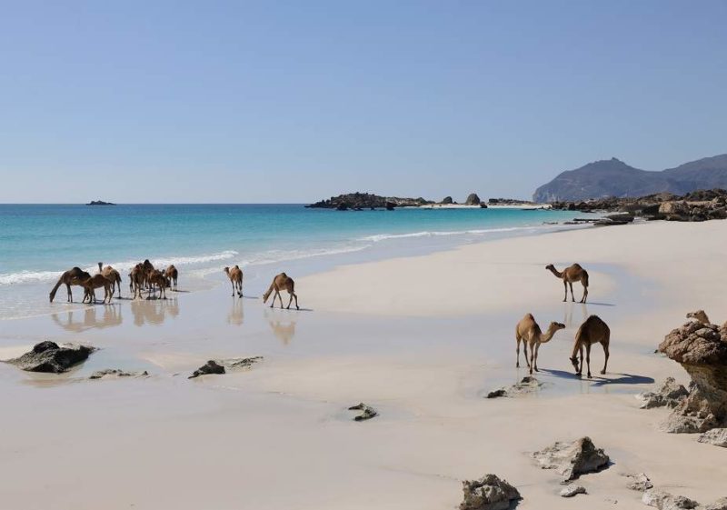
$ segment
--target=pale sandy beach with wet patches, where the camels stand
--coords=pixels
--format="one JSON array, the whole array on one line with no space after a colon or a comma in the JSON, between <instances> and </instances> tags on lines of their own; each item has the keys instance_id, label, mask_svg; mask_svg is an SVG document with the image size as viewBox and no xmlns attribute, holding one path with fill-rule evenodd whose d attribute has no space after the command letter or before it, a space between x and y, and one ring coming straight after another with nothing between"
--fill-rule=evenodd
<instances>
[{"instance_id":1,"label":"pale sandy beach with wet patches, where the camels stand","mask_svg":"<svg viewBox=\"0 0 727 510\"><path fill-rule=\"evenodd\" d=\"M455 508L461 481L486 473L516 485L523 509L647 508L622 477L634 472L711 503L727 495L727 449L660 432L667 411L640 410L634 395L668 375L687 382L653 354L687 312L727 319L726 238L722 221L588 228L306 276L300 312L223 285L5 321L4 357L45 339L100 350L65 375L0 365L0 508L434 510ZM588 305L562 303L544 270L573 262L591 275ZM540 351L547 386L485 399L526 375L513 338L526 312L567 326ZM591 314L611 326L609 371L578 380L568 356ZM264 361L186 378L242 355ZM592 365L596 375L600 346ZM99 368L151 376L86 379ZM346 408L361 401L380 416L354 423ZM613 464L565 500L528 453L583 435Z\"/></svg>"}]
</instances>

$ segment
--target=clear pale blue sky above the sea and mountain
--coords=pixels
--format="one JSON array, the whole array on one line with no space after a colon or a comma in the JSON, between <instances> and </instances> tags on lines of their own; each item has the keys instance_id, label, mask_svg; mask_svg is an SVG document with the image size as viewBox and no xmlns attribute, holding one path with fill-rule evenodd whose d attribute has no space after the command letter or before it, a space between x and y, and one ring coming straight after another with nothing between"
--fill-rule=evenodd
<instances>
[{"instance_id":1,"label":"clear pale blue sky above the sea and mountain","mask_svg":"<svg viewBox=\"0 0 727 510\"><path fill-rule=\"evenodd\" d=\"M528 197L727 152L727 2L2 2L0 202Z\"/></svg>"}]
</instances>

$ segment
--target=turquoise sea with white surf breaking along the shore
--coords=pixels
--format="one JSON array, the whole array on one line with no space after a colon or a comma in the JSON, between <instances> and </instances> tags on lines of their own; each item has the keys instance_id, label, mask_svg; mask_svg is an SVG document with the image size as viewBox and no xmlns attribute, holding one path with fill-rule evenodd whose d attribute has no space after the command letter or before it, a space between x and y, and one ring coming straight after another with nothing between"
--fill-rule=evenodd
<instances>
[{"instance_id":1,"label":"turquoise sea with white surf breaking along the shore","mask_svg":"<svg viewBox=\"0 0 727 510\"><path fill-rule=\"evenodd\" d=\"M78 265L174 264L182 281L413 255L564 228L573 212L520 209L332 211L303 205L0 205L0 319L49 313L47 292ZM267 281L267 280L266 280ZM194 285L193 285L194 286ZM65 292L61 293L65 302ZM80 296L80 291L78 292Z\"/></svg>"}]
</instances>

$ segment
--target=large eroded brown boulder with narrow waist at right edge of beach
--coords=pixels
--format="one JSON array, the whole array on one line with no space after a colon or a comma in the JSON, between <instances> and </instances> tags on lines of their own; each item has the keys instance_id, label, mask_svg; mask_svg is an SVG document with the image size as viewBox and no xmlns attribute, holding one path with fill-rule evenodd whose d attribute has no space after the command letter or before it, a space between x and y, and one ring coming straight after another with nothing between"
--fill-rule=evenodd
<instances>
[{"instance_id":1,"label":"large eroded brown boulder with narrow waist at right edge of beach","mask_svg":"<svg viewBox=\"0 0 727 510\"><path fill-rule=\"evenodd\" d=\"M692 434L727 426L727 336L717 325L689 322L672 330L659 351L692 378L689 395L662 428Z\"/></svg>"}]
</instances>

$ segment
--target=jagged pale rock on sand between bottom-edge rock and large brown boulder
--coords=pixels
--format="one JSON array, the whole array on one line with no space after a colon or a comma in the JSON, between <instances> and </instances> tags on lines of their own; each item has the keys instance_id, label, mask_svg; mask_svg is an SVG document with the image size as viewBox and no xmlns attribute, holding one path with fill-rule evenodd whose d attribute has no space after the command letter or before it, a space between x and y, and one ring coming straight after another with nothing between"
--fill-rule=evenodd
<instances>
[{"instance_id":1,"label":"jagged pale rock on sand between bottom-edge rock and large brown boulder","mask_svg":"<svg viewBox=\"0 0 727 510\"><path fill-rule=\"evenodd\" d=\"M596 448L590 437L582 437L572 443L557 442L532 456L541 468L556 469L563 475L563 483L586 473L601 471L610 462L608 455L602 448Z\"/></svg>"}]
</instances>

